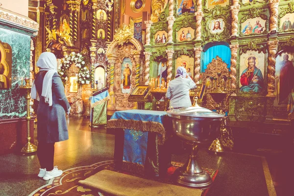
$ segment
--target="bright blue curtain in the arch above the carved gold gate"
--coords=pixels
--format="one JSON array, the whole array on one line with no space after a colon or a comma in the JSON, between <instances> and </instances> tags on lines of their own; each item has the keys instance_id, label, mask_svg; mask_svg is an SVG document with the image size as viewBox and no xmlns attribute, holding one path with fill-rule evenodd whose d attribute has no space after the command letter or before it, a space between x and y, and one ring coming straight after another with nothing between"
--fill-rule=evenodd
<instances>
[{"instance_id":1,"label":"bright blue curtain in the arch above the carved gold gate","mask_svg":"<svg viewBox=\"0 0 294 196\"><path fill-rule=\"evenodd\" d=\"M226 45L228 45L226 43ZM204 72L207 65L211 63L212 59L219 56L226 64L227 68L231 67L231 49L226 45L216 45L208 48L206 45L201 53L201 69L200 72Z\"/></svg>"}]
</instances>

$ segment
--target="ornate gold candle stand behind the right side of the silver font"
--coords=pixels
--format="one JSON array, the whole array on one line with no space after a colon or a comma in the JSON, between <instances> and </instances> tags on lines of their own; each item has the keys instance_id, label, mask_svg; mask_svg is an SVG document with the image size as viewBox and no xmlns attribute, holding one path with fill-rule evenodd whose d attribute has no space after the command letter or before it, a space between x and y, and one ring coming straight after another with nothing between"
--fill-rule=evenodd
<instances>
[{"instance_id":1,"label":"ornate gold candle stand behind the right side of the silver font","mask_svg":"<svg viewBox=\"0 0 294 196\"><path fill-rule=\"evenodd\" d=\"M217 112L220 114L224 114L223 110L221 110L223 102L225 98L232 93L231 86L231 77L226 77L224 75L221 76L221 73L218 73L218 78L213 78L213 84L211 85L213 88L207 91L211 95L211 97L216 102ZM223 80L223 83L221 82ZM234 146L233 137L227 130L226 123L227 117L223 117L220 128L220 136L213 141L211 146L208 148L214 152L223 152L224 147L232 149Z\"/></svg>"}]
</instances>

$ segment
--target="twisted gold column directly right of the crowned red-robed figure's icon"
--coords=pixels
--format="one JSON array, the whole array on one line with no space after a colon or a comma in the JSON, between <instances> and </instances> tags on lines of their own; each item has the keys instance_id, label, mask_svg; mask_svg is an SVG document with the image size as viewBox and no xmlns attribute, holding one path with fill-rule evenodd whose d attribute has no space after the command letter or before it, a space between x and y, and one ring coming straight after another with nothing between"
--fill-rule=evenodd
<instances>
[{"instance_id":1,"label":"twisted gold column directly right of the crowned red-robed figure's icon","mask_svg":"<svg viewBox=\"0 0 294 196\"><path fill-rule=\"evenodd\" d=\"M266 97L275 97L274 77L275 77L275 56L277 53L278 40L268 41L269 57L268 57L268 95Z\"/></svg>"}]
</instances>

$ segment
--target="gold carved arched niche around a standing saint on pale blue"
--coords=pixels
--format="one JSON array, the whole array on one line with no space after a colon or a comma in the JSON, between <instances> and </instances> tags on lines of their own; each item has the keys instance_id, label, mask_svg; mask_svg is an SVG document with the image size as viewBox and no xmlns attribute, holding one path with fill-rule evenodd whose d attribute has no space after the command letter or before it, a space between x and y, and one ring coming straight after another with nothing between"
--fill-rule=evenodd
<instances>
[{"instance_id":1,"label":"gold carved arched niche around a standing saint on pale blue","mask_svg":"<svg viewBox=\"0 0 294 196\"><path fill-rule=\"evenodd\" d=\"M130 92L139 85L142 72L142 53L143 45L135 38L130 38L127 43L119 43L114 40L106 51L109 62L109 73L107 81L109 84L109 94L112 97L108 103L108 109L125 110L136 107L134 102L129 102ZM126 64L129 64L131 75L129 76L130 84L123 85L125 78L123 76Z\"/></svg>"}]
</instances>

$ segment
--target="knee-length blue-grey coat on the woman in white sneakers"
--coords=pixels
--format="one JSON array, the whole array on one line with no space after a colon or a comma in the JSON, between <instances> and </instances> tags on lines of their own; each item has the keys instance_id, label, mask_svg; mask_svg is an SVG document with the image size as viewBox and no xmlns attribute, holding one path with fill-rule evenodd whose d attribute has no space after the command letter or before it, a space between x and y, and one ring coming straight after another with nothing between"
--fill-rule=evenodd
<instances>
[{"instance_id":1,"label":"knee-length blue-grey coat on the woman in white sneakers","mask_svg":"<svg viewBox=\"0 0 294 196\"><path fill-rule=\"evenodd\" d=\"M53 143L69 139L65 113L70 104L64 93L64 86L58 73L52 77L52 106L45 103L42 97L43 79L47 71L40 71L35 75L35 85L40 96L37 111L39 142Z\"/></svg>"}]
</instances>

